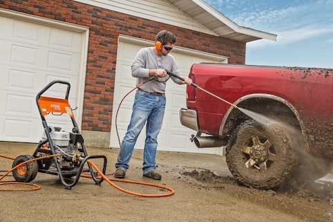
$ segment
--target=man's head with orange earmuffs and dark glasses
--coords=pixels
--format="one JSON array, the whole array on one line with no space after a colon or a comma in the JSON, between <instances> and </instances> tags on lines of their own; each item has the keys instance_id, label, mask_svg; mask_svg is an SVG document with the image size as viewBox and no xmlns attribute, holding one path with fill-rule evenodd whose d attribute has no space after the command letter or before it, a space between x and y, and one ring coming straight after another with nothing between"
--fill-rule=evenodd
<instances>
[{"instance_id":1,"label":"man's head with orange earmuffs and dark glasses","mask_svg":"<svg viewBox=\"0 0 333 222\"><path fill-rule=\"evenodd\" d=\"M156 35L156 50L161 51L161 53L166 55L173 48L173 44L177 38L175 35L167 30L162 30L158 35ZM163 52L165 50L165 52Z\"/></svg>"}]
</instances>

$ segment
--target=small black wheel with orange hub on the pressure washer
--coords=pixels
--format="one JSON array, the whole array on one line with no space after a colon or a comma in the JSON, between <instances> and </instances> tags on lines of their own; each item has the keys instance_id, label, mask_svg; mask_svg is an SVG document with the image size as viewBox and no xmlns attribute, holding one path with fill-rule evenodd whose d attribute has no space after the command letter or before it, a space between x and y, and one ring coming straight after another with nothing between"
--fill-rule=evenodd
<instances>
[{"instance_id":1,"label":"small black wheel with orange hub on the pressure washer","mask_svg":"<svg viewBox=\"0 0 333 222\"><path fill-rule=\"evenodd\" d=\"M15 158L14 162L12 163L12 167L14 168L20 163L32 159L33 157L30 155L17 156L17 158ZM12 176L14 176L17 182L28 183L30 181L33 181L33 179L35 179L35 177L37 176L37 172L38 172L37 161L31 161L17 167L17 169L14 169L12 171Z\"/></svg>"}]
</instances>

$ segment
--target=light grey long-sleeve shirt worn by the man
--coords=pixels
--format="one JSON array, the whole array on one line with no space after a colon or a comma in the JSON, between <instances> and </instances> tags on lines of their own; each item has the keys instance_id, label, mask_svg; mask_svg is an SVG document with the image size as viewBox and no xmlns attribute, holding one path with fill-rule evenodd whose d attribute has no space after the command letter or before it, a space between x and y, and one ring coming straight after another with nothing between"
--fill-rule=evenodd
<instances>
[{"instance_id":1,"label":"light grey long-sleeve shirt worn by the man","mask_svg":"<svg viewBox=\"0 0 333 222\"><path fill-rule=\"evenodd\" d=\"M153 47L141 48L137 53L135 60L131 66L132 76L137 77L136 84L139 85L142 82L148 80L149 78L149 69L162 68L176 75L180 75L178 71L177 64L175 64L175 59L172 55L168 54L166 56L158 56L154 52ZM165 93L165 86L169 76L160 78L160 82L149 81L146 84L140 86L140 89L149 93ZM176 77L171 76L173 82L181 84L181 80Z\"/></svg>"}]
</instances>

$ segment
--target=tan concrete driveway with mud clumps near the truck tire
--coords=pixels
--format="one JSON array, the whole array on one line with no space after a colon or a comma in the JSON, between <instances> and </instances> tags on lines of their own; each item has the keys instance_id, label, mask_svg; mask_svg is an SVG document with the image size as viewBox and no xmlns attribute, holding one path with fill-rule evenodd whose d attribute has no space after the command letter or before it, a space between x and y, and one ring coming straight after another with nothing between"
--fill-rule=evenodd
<instances>
[{"instance_id":1,"label":"tan concrete driveway with mud clumps near the truck tire","mask_svg":"<svg viewBox=\"0 0 333 222\"><path fill-rule=\"evenodd\" d=\"M35 148L34 144L0 142L0 154L6 156L32 155ZM118 149L88 148L87 151L89 155L103 154L108 158L106 174L113 178ZM160 151L157 164L161 181L142 177L142 151L135 151L126 178L166 185L175 190L172 196L132 196L106 181L95 185L91 178L80 178L72 189L64 189L57 176L38 173L32 183L40 185L41 189L1 192L0 221L327 222L330 219L332 207L327 197L310 193L305 188L302 191L306 195L244 187L234 181L222 156ZM11 165L12 160L0 158L0 170L8 170ZM115 183L144 194L168 192L145 185ZM8 186L12 187L5 185L0 189Z\"/></svg>"}]
</instances>

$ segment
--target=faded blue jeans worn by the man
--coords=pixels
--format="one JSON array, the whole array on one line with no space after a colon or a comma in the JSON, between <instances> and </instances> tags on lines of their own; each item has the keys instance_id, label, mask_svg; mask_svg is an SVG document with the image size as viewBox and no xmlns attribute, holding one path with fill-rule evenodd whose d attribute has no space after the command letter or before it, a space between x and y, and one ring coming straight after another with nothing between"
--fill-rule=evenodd
<instances>
[{"instance_id":1,"label":"faded blue jeans worn by the man","mask_svg":"<svg viewBox=\"0 0 333 222\"><path fill-rule=\"evenodd\" d=\"M154 95L144 91L136 91L133 112L127 128L115 167L129 169L135 142L144 124L146 124L146 140L144 142L144 162L142 171L148 173L155 167L156 149L158 149L158 133L162 127L165 95Z\"/></svg>"}]
</instances>

